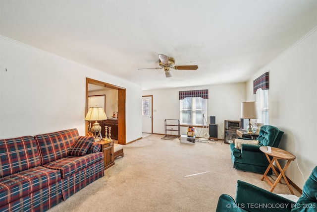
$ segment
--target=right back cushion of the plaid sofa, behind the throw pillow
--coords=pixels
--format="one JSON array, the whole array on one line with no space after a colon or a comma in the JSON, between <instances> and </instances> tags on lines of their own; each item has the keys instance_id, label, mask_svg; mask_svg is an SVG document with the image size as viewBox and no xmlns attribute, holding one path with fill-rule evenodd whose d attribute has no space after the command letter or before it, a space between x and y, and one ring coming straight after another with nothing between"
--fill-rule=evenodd
<instances>
[{"instance_id":1,"label":"right back cushion of the plaid sofa, behind the throw pillow","mask_svg":"<svg viewBox=\"0 0 317 212\"><path fill-rule=\"evenodd\" d=\"M46 164L67 156L70 147L79 138L77 129L63 130L37 135L35 139L41 153L41 164Z\"/></svg>"}]
</instances>

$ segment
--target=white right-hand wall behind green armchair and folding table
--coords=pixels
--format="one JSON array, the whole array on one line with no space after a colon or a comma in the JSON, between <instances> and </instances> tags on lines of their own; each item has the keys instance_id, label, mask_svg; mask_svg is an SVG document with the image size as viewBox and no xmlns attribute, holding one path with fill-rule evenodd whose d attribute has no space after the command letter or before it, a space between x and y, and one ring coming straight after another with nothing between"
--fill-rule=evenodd
<instances>
[{"instance_id":1,"label":"white right-hand wall behind green armchair and folding table","mask_svg":"<svg viewBox=\"0 0 317 212\"><path fill-rule=\"evenodd\" d=\"M279 147L296 155L286 171L302 187L317 165L317 28L295 43L247 82L247 99L255 100L253 80L269 71L269 124L284 131Z\"/></svg>"}]
</instances>

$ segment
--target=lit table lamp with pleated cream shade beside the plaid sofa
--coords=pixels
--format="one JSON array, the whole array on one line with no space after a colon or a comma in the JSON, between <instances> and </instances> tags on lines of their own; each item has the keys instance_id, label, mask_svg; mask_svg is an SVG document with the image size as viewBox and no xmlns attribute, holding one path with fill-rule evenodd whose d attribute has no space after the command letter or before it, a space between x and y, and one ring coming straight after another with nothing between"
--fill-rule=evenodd
<instances>
[{"instance_id":1,"label":"lit table lamp with pleated cream shade beside the plaid sofa","mask_svg":"<svg viewBox=\"0 0 317 212\"><path fill-rule=\"evenodd\" d=\"M107 116L103 107L89 108L85 120L96 121L90 130L90 132L94 135L95 140L99 140L100 134L101 134L101 126L99 125L98 121L102 121L106 119L107 119Z\"/></svg>"}]
</instances>

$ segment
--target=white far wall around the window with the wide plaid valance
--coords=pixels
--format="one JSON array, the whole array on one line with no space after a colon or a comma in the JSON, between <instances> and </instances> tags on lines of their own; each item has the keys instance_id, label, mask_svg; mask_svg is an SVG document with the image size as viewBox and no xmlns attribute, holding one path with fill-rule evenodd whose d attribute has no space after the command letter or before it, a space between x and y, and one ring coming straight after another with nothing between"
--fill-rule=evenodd
<instances>
[{"instance_id":1,"label":"white far wall around the window with the wide plaid valance","mask_svg":"<svg viewBox=\"0 0 317 212\"><path fill-rule=\"evenodd\" d=\"M179 91L208 89L208 117L206 119L210 123L210 116L215 116L216 123L218 124L218 138L221 139L221 134L224 131L224 120L240 120L240 104L246 98L245 87L245 83L215 84L146 90L142 92L142 95L153 95L153 133L164 134L165 119L180 119ZM199 135L201 128L196 128L196 131ZM186 134L186 132L187 128L182 127L181 134ZM205 132L209 132L209 130L205 129ZM170 133L168 132L168 134ZM203 137L203 132L200 137Z\"/></svg>"}]
</instances>

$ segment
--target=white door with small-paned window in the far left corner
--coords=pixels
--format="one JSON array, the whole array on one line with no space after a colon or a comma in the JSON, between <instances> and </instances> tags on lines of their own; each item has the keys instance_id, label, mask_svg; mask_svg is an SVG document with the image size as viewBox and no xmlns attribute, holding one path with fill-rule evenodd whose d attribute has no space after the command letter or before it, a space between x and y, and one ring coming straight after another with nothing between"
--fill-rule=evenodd
<instances>
[{"instance_id":1,"label":"white door with small-paned window in the far left corner","mask_svg":"<svg viewBox=\"0 0 317 212\"><path fill-rule=\"evenodd\" d=\"M142 133L152 133L152 96L142 96Z\"/></svg>"}]
</instances>

